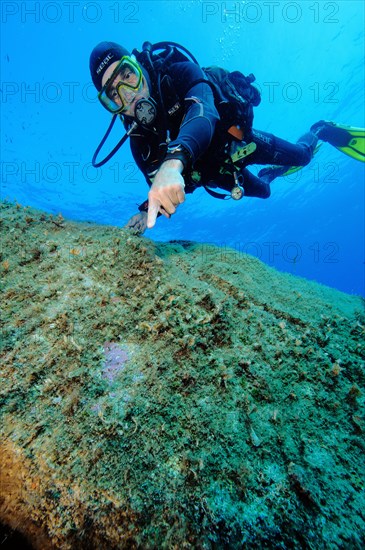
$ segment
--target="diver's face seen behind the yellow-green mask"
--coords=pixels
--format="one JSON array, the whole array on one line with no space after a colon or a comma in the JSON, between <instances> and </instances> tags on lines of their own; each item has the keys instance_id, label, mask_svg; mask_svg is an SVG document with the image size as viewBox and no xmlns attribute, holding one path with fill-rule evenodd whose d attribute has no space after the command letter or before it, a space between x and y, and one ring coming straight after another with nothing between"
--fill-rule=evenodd
<instances>
[{"instance_id":1,"label":"diver's face seen behind the yellow-green mask","mask_svg":"<svg viewBox=\"0 0 365 550\"><path fill-rule=\"evenodd\" d=\"M102 86L111 79L119 63L116 61L107 68L102 78ZM117 106L120 106L121 114L134 117L137 101L149 96L148 84L142 76L142 82L138 85L138 76L127 66L108 83L108 96Z\"/></svg>"}]
</instances>

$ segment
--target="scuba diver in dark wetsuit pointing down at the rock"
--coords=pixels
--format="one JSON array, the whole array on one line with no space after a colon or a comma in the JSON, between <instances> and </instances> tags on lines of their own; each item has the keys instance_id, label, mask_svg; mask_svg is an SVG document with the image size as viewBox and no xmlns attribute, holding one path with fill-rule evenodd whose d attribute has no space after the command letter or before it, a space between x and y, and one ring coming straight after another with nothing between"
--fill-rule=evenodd
<instances>
[{"instance_id":1,"label":"scuba diver in dark wetsuit pointing down at the rock","mask_svg":"<svg viewBox=\"0 0 365 550\"><path fill-rule=\"evenodd\" d=\"M278 176L300 170L325 141L365 160L364 130L319 121L297 143L253 128L260 93L253 75L219 67L201 68L174 42L145 42L128 52L101 42L90 56L92 81L111 124L93 156L105 164L129 138L131 152L150 187L148 199L125 227L142 234L161 214L170 218L186 193L203 186L216 198L268 198ZM101 161L97 156L116 118L126 130ZM250 164L270 165L258 176ZM215 189L223 190L224 193Z\"/></svg>"}]
</instances>

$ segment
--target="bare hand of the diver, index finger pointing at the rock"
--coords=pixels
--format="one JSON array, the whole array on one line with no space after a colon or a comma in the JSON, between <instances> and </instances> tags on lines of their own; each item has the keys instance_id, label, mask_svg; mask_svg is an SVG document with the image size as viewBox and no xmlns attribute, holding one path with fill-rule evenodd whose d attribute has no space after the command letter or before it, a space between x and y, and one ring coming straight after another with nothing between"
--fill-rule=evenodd
<instances>
[{"instance_id":1,"label":"bare hand of the diver, index finger pointing at the rock","mask_svg":"<svg viewBox=\"0 0 365 550\"><path fill-rule=\"evenodd\" d=\"M148 228L155 225L159 212L169 218L176 212L177 206L184 202L183 168L183 163L178 159L167 160L161 165L148 193Z\"/></svg>"}]
</instances>

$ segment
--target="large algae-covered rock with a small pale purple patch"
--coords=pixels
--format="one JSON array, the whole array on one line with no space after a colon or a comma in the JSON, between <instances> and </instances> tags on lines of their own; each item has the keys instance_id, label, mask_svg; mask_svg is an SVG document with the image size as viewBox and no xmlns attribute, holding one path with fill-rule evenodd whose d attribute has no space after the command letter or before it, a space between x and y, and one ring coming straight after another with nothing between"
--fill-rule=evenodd
<instances>
[{"instance_id":1,"label":"large algae-covered rock with a small pale purple patch","mask_svg":"<svg viewBox=\"0 0 365 550\"><path fill-rule=\"evenodd\" d=\"M360 298L2 209L0 520L34 548L362 548Z\"/></svg>"}]
</instances>

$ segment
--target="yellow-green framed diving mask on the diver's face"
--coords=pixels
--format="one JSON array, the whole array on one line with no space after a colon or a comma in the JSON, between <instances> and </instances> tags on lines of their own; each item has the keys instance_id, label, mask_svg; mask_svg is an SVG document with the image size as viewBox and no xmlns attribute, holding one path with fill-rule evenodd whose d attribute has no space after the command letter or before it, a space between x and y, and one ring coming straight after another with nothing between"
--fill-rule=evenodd
<instances>
[{"instance_id":1,"label":"yellow-green framed diving mask on the diver's face","mask_svg":"<svg viewBox=\"0 0 365 550\"><path fill-rule=\"evenodd\" d=\"M132 57L124 56L100 90L98 98L109 112L122 113L142 87L141 67Z\"/></svg>"}]
</instances>

